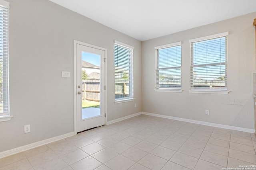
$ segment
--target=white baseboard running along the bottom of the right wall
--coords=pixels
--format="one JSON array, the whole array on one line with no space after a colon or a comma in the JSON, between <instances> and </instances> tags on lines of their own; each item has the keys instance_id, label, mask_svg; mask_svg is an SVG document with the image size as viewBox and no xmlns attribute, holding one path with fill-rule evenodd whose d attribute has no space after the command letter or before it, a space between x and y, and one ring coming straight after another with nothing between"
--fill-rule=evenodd
<instances>
[{"instance_id":1,"label":"white baseboard running along the bottom of the right wall","mask_svg":"<svg viewBox=\"0 0 256 170\"><path fill-rule=\"evenodd\" d=\"M174 119L174 120L179 120L179 121L186 121L190 123L196 123L199 125L206 125L206 126L212 126L212 127L219 127L223 129L230 129L230 130L236 130L236 131L243 131L243 132L248 132L248 133L254 133L255 129L248 129L248 128L243 128L243 127L236 127L236 126L230 126L230 125L222 125L222 124L217 124L217 123L210 123L210 122L205 122L205 121L197 121L197 120L192 120L192 119L184 119L180 117L172 117L172 116L167 116L167 115L159 115L159 114L154 114L154 113L147 113L147 112L142 112L144 115L150 115L150 116L156 116L156 117L162 117L166 119Z\"/></svg>"}]
</instances>

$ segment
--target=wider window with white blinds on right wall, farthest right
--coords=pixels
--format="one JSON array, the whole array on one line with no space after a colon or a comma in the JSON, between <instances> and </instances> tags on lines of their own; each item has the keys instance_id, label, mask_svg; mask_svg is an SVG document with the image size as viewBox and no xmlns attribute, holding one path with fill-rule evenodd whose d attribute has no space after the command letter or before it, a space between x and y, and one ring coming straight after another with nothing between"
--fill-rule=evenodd
<instances>
[{"instance_id":1,"label":"wider window with white blinds on right wall, farthest right","mask_svg":"<svg viewBox=\"0 0 256 170\"><path fill-rule=\"evenodd\" d=\"M191 90L228 90L227 35L228 32L190 40Z\"/></svg>"}]
</instances>

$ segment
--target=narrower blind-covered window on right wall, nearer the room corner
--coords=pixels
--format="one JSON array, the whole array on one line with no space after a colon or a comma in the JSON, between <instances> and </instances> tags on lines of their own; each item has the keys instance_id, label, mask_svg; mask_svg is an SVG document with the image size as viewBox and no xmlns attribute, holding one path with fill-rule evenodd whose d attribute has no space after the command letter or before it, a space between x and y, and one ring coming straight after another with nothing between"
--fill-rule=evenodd
<instances>
[{"instance_id":1,"label":"narrower blind-covered window on right wall, nearer the room corner","mask_svg":"<svg viewBox=\"0 0 256 170\"><path fill-rule=\"evenodd\" d=\"M156 91L181 89L181 42L161 45L155 49Z\"/></svg>"}]
</instances>

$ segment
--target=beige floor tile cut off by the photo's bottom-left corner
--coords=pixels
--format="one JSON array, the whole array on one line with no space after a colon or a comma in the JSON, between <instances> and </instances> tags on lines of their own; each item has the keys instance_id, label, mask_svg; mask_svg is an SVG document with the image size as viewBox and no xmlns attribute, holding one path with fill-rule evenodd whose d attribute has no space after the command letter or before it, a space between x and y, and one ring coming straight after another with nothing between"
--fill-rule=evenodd
<instances>
[{"instance_id":1,"label":"beige floor tile cut off by the photo's bottom-left corner","mask_svg":"<svg viewBox=\"0 0 256 170\"><path fill-rule=\"evenodd\" d=\"M19 160L12 164L8 164L0 168L0 170L28 170L32 168L30 162L27 159Z\"/></svg>"}]
</instances>

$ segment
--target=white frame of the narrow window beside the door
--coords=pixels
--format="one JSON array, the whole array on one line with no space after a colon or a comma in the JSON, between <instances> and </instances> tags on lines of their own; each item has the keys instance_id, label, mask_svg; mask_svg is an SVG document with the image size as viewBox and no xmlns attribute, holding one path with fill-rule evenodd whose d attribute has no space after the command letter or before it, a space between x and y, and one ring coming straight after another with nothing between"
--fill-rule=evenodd
<instances>
[{"instance_id":1,"label":"white frame of the narrow window beside the door","mask_svg":"<svg viewBox=\"0 0 256 170\"><path fill-rule=\"evenodd\" d=\"M134 100L134 75L133 75L133 51L134 51L134 47L125 43L122 43L120 41L114 41L114 60L116 59L116 45L120 46L120 47L124 47L126 49L128 49L130 51L130 55L129 55L129 93L130 95L128 97L122 97L122 98L116 98L116 88L115 88L115 104L118 103L123 103L123 102L130 102ZM114 61L114 65L115 65L115 61ZM114 67L114 74L115 74L115 78L114 78L114 83L116 87L116 66Z\"/></svg>"}]
</instances>

